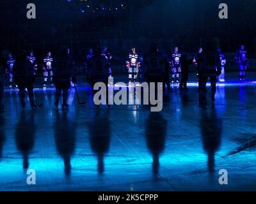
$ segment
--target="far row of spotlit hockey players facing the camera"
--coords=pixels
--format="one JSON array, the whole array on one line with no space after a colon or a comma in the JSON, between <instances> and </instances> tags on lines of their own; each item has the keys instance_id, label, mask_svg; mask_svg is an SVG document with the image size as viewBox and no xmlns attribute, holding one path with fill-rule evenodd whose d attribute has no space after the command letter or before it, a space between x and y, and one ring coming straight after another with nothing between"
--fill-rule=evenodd
<instances>
[{"instance_id":1,"label":"far row of spotlit hockey players facing the camera","mask_svg":"<svg viewBox=\"0 0 256 204\"><path fill-rule=\"evenodd\" d=\"M196 53L194 59L193 59L193 64L196 65L196 59L198 55L202 52L202 50L198 50L198 53ZM226 64L226 57L223 52L221 52L221 48L217 48L217 52L220 55L220 61L221 61L221 75L218 77L219 82L225 82L225 64ZM108 52L107 48L104 47L102 48L101 55L106 57L108 61L111 61L112 56ZM92 48L89 49L88 55L86 55L86 62L85 62L85 68L87 69L87 61L93 57L93 50ZM184 74L184 79L182 80L182 84L180 84L180 87L185 87L186 88L186 83L184 82L187 81L187 72L188 72L188 65L190 64L190 61L186 59L186 54L180 54L179 48L175 47L174 52L170 54L170 57L167 57L168 59L168 67L166 68L166 73L171 73L171 84L180 83L180 73ZM33 64L33 67L35 69L35 74L37 71L37 61L36 57L33 53L33 50L29 51L29 54L26 56L26 59L31 61ZM54 83L52 83L52 77L53 77L53 72L52 72L52 62L53 58L51 56L51 52L47 52L47 54L44 57L44 66L43 66L43 75L44 75L44 85L43 88L46 88L47 80L51 81L51 86L54 87ZM136 52L136 48L132 48L131 53L127 57L126 61L126 68L128 70L128 78L129 78L129 84L132 84L133 82L136 82L138 75L140 73L140 68L141 68L141 63L142 60L140 55ZM242 45L239 50L237 50L236 55L235 55L235 60L237 65L239 66L239 80L241 82L245 82L245 73L246 69L248 67L248 58L247 58L247 52L244 50L244 46ZM15 87L17 88L17 85L13 83L13 64L15 62L15 59L12 54L9 54L8 60L6 62L6 75L9 80L9 87ZM189 62L189 64L187 64ZM169 69L169 70L168 70ZM167 76L166 76L167 78ZM169 83L169 80L167 80L167 83ZM169 87L169 86L168 86Z\"/></svg>"}]
</instances>

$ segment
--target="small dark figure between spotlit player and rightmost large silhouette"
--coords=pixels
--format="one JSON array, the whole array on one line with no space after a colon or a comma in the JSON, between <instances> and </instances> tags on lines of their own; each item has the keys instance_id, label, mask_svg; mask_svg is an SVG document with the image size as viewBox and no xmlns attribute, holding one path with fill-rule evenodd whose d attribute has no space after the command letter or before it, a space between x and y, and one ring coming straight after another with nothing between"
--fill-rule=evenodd
<instances>
[{"instance_id":1,"label":"small dark figure between spotlit player and rightmost large silhouette","mask_svg":"<svg viewBox=\"0 0 256 204\"><path fill-rule=\"evenodd\" d=\"M180 81L180 89L188 90L188 74L189 74L189 65L193 64L192 60L188 59L188 54L183 53L180 59L181 69L181 81Z\"/></svg>"}]
</instances>

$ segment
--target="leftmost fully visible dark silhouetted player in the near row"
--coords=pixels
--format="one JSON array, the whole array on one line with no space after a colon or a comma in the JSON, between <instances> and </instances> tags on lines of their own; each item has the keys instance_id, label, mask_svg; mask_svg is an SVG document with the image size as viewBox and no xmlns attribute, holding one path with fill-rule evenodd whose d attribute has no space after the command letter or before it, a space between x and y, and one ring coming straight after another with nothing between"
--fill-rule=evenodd
<instances>
[{"instance_id":1,"label":"leftmost fully visible dark silhouetted player in the near row","mask_svg":"<svg viewBox=\"0 0 256 204\"><path fill-rule=\"evenodd\" d=\"M19 60L13 65L13 79L15 84L18 85L20 102L22 108L25 108L25 89L28 89L29 101L31 108L36 108L34 102L33 84L35 82L35 66L26 59L26 52L20 54Z\"/></svg>"}]
</instances>

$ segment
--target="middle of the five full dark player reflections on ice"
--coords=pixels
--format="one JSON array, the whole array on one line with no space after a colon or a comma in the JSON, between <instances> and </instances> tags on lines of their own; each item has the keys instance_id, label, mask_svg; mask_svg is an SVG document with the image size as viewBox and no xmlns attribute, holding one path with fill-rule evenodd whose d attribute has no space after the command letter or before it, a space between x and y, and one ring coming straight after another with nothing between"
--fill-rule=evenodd
<instances>
[{"instance_id":1,"label":"middle of the five full dark player reflections on ice","mask_svg":"<svg viewBox=\"0 0 256 204\"><path fill-rule=\"evenodd\" d=\"M111 126L109 112L95 112L94 119L88 124L90 133L90 145L98 157L98 172L104 172L104 154L109 151L111 139Z\"/></svg>"}]
</instances>

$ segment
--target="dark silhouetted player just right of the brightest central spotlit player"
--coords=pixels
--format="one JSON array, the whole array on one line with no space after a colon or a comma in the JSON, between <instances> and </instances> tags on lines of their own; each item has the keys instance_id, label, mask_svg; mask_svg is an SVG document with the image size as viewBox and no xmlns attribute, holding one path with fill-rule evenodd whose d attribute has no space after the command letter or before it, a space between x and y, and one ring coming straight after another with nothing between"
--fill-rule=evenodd
<instances>
[{"instance_id":1,"label":"dark silhouetted player just right of the brightest central spotlit player","mask_svg":"<svg viewBox=\"0 0 256 204\"><path fill-rule=\"evenodd\" d=\"M164 58L158 51L157 45L151 43L150 52L144 58L144 75L148 84L150 82L163 82L164 81Z\"/></svg>"}]
</instances>

